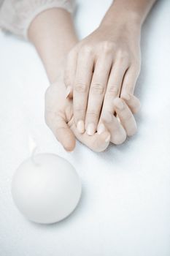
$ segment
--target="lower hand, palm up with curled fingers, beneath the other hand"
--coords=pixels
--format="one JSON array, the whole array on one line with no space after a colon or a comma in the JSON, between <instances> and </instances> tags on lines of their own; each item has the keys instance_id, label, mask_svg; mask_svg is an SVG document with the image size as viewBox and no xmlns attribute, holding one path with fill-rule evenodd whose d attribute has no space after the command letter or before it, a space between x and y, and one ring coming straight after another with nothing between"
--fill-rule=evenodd
<instances>
[{"instance_id":1,"label":"lower hand, palm up with curled fingers, beneath the other hand","mask_svg":"<svg viewBox=\"0 0 170 256\"><path fill-rule=\"evenodd\" d=\"M75 146L75 138L96 152L104 151L109 146L109 141L115 144L123 143L126 138L126 130L134 125L134 116L128 110L125 101L115 99L115 111L121 121L110 114L104 115L105 131L96 132L89 136L86 132L78 132L74 123L73 102L66 97L66 87L62 75L58 75L55 83L48 87L45 93L45 121L53 131L55 137L67 151L72 151ZM128 127L126 126L128 118ZM124 129L125 127L125 129Z\"/></svg>"}]
</instances>

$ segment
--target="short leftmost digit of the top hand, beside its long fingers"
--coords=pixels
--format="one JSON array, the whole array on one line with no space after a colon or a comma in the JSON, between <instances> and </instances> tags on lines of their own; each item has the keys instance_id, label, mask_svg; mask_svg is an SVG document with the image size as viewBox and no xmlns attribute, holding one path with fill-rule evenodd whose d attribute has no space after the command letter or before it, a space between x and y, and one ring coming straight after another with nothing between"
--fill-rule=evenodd
<instances>
[{"instance_id":1,"label":"short leftmost digit of the top hand, beside its long fingers","mask_svg":"<svg viewBox=\"0 0 170 256\"><path fill-rule=\"evenodd\" d=\"M77 50L71 50L67 56L64 70L64 83L66 85L66 97L73 97L73 85L77 68Z\"/></svg>"}]
</instances>

